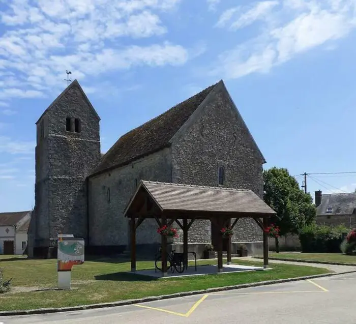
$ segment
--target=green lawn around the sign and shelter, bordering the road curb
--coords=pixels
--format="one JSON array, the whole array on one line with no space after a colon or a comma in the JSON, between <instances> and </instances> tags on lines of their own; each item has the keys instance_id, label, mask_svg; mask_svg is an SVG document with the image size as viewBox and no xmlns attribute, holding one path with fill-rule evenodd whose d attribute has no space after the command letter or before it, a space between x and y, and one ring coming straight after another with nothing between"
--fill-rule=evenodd
<instances>
[{"instance_id":1,"label":"green lawn around the sign and shelter, bordering the road curb","mask_svg":"<svg viewBox=\"0 0 356 324\"><path fill-rule=\"evenodd\" d=\"M8 256L8 258L10 258ZM256 262L235 260L239 264ZM199 261L199 264L216 264L216 260ZM160 294L199 290L264 280L283 279L328 273L327 269L272 264L273 269L260 272L245 272L223 275L206 275L190 278L152 279L123 273L130 269L128 260L92 260L72 271L71 290L28 291L34 287L56 287L56 260L13 260L0 258L5 278L13 277L12 286L16 293L0 294L0 310L66 307L84 304L113 302ZM151 269L153 261L137 262L137 270Z\"/></svg>"}]
</instances>

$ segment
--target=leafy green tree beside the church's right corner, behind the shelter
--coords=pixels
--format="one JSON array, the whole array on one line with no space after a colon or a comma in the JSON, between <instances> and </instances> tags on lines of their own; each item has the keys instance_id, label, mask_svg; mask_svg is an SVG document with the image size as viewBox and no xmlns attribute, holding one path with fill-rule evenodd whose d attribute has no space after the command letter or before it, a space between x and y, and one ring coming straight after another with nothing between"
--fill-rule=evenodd
<instances>
[{"instance_id":1,"label":"leafy green tree beside the church's right corner, behind the shelter","mask_svg":"<svg viewBox=\"0 0 356 324\"><path fill-rule=\"evenodd\" d=\"M315 205L310 194L304 193L298 182L287 169L272 167L263 171L264 201L275 210L277 216L270 219L280 228L280 235L298 234L308 224L315 221ZM276 252L279 241L276 238Z\"/></svg>"}]
</instances>

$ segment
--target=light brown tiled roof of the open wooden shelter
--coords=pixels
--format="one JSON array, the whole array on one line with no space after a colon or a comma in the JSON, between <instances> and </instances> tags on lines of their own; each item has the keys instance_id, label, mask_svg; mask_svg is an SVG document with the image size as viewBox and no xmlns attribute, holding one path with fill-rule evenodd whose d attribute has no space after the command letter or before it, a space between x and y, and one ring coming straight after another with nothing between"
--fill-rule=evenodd
<instances>
[{"instance_id":1,"label":"light brown tiled roof of the open wooden shelter","mask_svg":"<svg viewBox=\"0 0 356 324\"><path fill-rule=\"evenodd\" d=\"M252 190L152 181L141 181L140 186L150 193L163 211L232 212L271 216L276 214ZM134 198L131 201L133 200ZM125 213L129 206L130 204Z\"/></svg>"}]
</instances>

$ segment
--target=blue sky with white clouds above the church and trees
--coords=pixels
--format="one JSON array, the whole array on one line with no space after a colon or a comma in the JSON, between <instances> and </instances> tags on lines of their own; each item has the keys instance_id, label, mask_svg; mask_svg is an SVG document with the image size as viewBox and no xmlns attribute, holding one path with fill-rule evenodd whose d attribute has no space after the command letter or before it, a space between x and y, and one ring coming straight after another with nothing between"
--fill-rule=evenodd
<instances>
[{"instance_id":1,"label":"blue sky with white clouds above the church and trees","mask_svg":"<svg viewBox=\"0 0 356 324\"><path fill-rule=\"evenodd\" d=\"M103 152L223 79L265 168L356 171L355 29L354 0L0 0L0 212L34 205L35 123L66 69ZM311 193L356 188L356 173L313 177Z\"/></svg>"}]
</instances>

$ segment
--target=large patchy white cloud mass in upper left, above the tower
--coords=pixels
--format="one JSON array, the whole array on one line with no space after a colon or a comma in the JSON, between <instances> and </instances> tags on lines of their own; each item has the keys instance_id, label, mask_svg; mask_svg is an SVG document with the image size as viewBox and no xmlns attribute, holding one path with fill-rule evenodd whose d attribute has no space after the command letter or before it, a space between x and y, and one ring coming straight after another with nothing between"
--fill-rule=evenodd
<instances>
[{"instance_id":1,"label":"large patchy white cloud mass in upper left, above the tower","mask_svg":"<svg viewBox=\"0 0 356 324\"><path fill-rule=\"evenodd\" d=\"M4 84L0 84L2 102L15 97L41 98L57 93L63 89L62 75L66 69L73 72L73 78L82 81L88 76L135 66L184 64L188 51L180 45L160 40L145 41L144 46L130 45L138 38L167 33L161 15L180 2L2 2L0 27L5 31L0 38L0 76L4 76ZM134 42L122 41L123 37ZM7 78L6 74L9 74Z\"/></svg>"}]
</instances>

